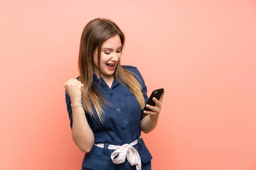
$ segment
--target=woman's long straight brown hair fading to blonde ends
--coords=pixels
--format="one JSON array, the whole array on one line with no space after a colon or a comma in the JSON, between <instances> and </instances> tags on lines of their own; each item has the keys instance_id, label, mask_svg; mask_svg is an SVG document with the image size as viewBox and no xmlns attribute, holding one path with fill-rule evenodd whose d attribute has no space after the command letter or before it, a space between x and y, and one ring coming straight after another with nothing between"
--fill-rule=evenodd
<instances>
[{"instance_id":1,"label":"woman's long straight brown hair fading to blonde ends","mask_svg":"<svg viewBox=\"0 0 256 170\"><path fill-rule=\"evenodd\" d=\"M90 101L95 107L96 114L100 119L100 122L103 123L104 121L104 111L102 107L104 105L108 105L109 103L103 99L101 94L96 90L93 86L93 53L96 49L98 49L98 65L100 65L100 54L102 43L105 42L110 37L118 35L121 39L122 48L123 50L125 44L125 35L120 30L120 28L113 23L111 20L96 18L91 20L87 25L84 27L84 30L81 35L80 41L80 49L79 49L79 81L84 84L83 87L83 105L86 109L87 113L90 116L95 117ZM128 90L130 90L135 98L137 99L140 108L143 109L145 105L145 99L141 92L141 82L137 81L135 77L139 79L139 77L132 73L131 71L126 70L120 65L120 62L116 65L116 69L114 71L114 77L117 81L121 84L123 82L127 86ZM100 74L100 66L99 66L99 82L101 81L101 74Z\"/></svg>"}]
</instances>

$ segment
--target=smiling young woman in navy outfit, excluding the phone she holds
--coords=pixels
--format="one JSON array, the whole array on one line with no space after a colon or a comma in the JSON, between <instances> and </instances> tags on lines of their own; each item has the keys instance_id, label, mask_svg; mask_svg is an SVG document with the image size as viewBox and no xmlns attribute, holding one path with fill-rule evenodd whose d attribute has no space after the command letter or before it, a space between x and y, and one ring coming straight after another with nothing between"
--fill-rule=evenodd
<instances>
[{"instance_id":1,"label":"smiling young woman in navy outfit, excluding the phone she holds","mask_svg":"<svg viewBox=\"0 0 256 170\"><path fill-rule=\"evenodd\" d=\"M124 44L115 23L90 21L81 35L80 76L64 84L72 138L86 153L82 170L151 170L140 135L156 127L163 95L142 116L147 88L136 67L120 65Z\"/></svg>"}]
</instances>

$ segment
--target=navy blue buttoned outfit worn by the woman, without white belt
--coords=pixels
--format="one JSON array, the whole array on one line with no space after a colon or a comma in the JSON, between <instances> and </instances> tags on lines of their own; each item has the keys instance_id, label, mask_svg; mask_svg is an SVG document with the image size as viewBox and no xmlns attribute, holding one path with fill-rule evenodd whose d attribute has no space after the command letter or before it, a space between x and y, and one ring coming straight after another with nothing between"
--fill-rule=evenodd
<instances>
[{"instance_id":1,"label":"navy blue buttoned outfit worn by the woman, without white belt","mask_svg":"<svg viewBox=\"0 0 256 170\"><path fill-rule=\"evenodd\" d=\"M142 83L142 93L145 102L147 102L147 87L143 77L140 74L140 71L138 71L138 69L134 66L122 65L122 67L137 74L137 76L140 78ZM137 79L137 77L135 78ZM99 87L99 79L96 74L93 74L93 85L96 88ZM91 117L89 114L85 114L85 116L91 130L93 131L95 143L104 143L105 148L100 148L93 145L90 153L87 153L84 156L83 167L107 170L106 168L111 166L109 165L111 163L110 156L114 151L106 149L108 144L122 146L123 144L130 144L136 139L139 140L139 143L136 144L134 148L139 152L142 163L149 162L152 159L152 156L145 146L143 140L139 138L141 135L140 121L143 119L143 116L141 114L142 110L135 96L116 79L113 80L112 86L109 88L107 83L102 78L99 92L103 94L104 98L112 104L102 108L105 113L104 125L100 123L98 116L96 116L96 119ZM73 118L72 109L70 106L71 101L66 91L65 95L67 111L70 119L70 127L72 128ZM96 113L92 103L91 106L93 113ZM128 162L125 161L125 163ZM112 167L112 169L125 168L121 167L122 165L120 164L113 166L115 167ZM127 169L127 167L125 169Z\"/></svg>"}]
</instances>

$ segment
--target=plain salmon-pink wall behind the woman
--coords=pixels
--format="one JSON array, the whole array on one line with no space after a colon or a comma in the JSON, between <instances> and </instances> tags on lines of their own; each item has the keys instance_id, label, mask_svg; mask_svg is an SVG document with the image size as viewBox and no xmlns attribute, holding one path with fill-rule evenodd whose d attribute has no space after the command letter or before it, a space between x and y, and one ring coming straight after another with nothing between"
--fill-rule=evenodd
<instances>
[{"instance_id":1,"label":"plain salmon-pink wall behind the woman","mask_svg":"<svg viewBox=\"0 0 256 170\"><path fill-rule=\"evenodd\" d=\"M139 68L148 95L167 90L143 134L152 170L256 169L255 1L1 0L1 170L81 167L64 82L96 17L125 32L122 64Z\"/></svg>"}]
</instances>

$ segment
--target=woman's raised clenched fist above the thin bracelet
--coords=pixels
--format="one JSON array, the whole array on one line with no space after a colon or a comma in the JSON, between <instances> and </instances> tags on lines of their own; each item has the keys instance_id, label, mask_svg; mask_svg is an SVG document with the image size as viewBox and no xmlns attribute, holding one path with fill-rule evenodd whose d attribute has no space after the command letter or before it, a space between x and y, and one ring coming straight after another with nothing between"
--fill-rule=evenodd
<instances>
[{"instance_id":1,"label":"woman's raised clenched fist above the thin bracelet","mask_svg":"<svg viewBox=\"0 0 256 170\"><path fill-rule=\"evenodd\" d=\"M64 87L70 96L71 103L80 104L82 98L83 84L77 79L69 79L65 82Z\"/></svg>"}]
</instances>

